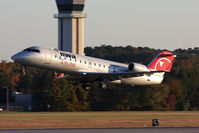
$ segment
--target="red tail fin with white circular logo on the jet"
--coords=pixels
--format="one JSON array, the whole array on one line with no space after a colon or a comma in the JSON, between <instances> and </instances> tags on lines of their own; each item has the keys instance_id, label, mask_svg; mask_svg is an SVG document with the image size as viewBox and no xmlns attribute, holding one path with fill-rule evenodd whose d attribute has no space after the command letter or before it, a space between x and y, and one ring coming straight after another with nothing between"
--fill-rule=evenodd
<instances>
[{"instance_id":1,"label":"red tail fin with white circular logo on the jet","mask_svg":"<svg viewBox=\"0 0 199 133\"><path fill-rule=\"evenodd\" d=\"M175 57L173 53L163 51L147 67L155 71L170 72Z\"/></svg>"}]
</instances>

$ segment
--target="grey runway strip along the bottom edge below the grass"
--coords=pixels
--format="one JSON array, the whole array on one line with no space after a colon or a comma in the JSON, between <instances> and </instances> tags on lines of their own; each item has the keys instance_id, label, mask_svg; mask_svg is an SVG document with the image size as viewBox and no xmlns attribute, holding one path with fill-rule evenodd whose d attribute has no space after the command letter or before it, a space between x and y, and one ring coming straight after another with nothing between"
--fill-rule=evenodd
<instances>
[{"instance_id":1,"label":"grey runway strip along the bottom edge below the grass","mask_svg":"<svg viewBox=\"0 0 199 133\"><path fill-rule=\"evenodd\" d=\"M13 129L0 133L199 133L198 128L128 128L128 129Z\"/></svg>"}]
</instances>

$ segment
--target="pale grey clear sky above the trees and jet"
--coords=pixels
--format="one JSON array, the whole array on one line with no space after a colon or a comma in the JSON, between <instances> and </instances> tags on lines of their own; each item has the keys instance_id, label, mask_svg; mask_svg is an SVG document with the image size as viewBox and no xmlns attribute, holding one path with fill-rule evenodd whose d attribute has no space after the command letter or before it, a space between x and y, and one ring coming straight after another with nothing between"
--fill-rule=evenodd
<instances>
[{"instance_id":1,"label":"pale grey clear sky above the trees and jet","mask_svg":"<svg viewBox=\"0 0 199 133\"><path fill-rule=\"evenodd\" d=\"M199 47L199 0L86 0L85 46ZM58 45L55 0L0 0L0 60Z\"/></svg>"}]
</instances>

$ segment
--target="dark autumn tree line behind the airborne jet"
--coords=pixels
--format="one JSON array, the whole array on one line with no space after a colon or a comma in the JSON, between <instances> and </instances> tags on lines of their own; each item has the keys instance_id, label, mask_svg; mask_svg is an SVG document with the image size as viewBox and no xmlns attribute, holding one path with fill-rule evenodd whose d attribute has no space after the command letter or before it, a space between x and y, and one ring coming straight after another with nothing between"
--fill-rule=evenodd
<instances>
[{"instance_id":1,"label":"dark autumn tree line behind the airborne jet","mask_svg":"<svg viewBox=\"0 0 199 133\"><path fill-rule=\"evenodd\" d=\"M138 62L147 65L160 51L148 47L87 47L88 56L121 63ZM84 90L82 84L66 79L56 79L53 71L22 66L12 62L0 63L0 89L32 94L33 111L188 111L199 110L199 48L176 49L183 53L175 59L170 73L160 85L112 85L99 88L90 83ZM0 93L0 104L6 94ZM50 108L47 107L50 105Z\"/></svg>"}]
</instances>

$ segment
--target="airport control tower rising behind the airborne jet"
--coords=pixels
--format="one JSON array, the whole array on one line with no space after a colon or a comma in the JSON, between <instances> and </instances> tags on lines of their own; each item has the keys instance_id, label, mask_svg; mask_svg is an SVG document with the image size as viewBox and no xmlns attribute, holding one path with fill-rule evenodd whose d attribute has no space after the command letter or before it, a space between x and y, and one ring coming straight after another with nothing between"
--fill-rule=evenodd
<instances>
[{"instance_id":1,"label":"airport control tower rising behind the airborne jet","mask_svg":"<svg viewBox=\"0 0 199 133\"><path fill-rule=\"evenodd\" d=\"M56 0L58 18L58 49L75 54L84 54L85 0Z\"/></svg>"}]
</instances>

